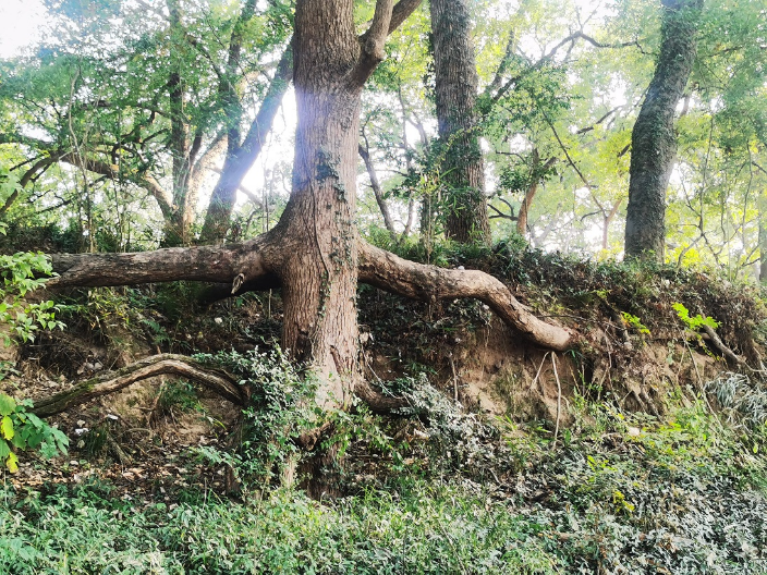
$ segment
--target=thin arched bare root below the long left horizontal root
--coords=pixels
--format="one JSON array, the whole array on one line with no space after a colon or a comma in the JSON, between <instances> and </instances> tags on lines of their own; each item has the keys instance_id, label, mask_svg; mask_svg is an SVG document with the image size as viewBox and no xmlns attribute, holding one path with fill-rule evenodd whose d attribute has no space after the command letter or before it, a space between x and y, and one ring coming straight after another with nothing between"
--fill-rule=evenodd
<instances>
[{"instance_id":1,"label":"thin arched bare root below the long left horizontal root","mask_svg":"<svg viewBox=\"0 0 767 575\"><path fill-rule=\"evenodd\" d=\"M33 413L48 417L82 405L93 399L120 391L138 381L157 376L179 376L200 383L236 405L245 405L247 393L228 374L210 369L183 355L160 354L139 359L117 371L81 381L72 389L33 402Z\"/></svg>"}]
</instances>

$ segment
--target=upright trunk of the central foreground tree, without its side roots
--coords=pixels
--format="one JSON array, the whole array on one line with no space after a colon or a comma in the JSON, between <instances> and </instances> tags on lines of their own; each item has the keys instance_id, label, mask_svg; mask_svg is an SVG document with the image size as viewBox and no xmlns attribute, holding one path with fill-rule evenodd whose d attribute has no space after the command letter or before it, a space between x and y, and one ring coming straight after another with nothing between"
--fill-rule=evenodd
<instances>
[{"instance_id":1,"label":"upright trunk of the central foreground tree, without its side roots","mask_svg":"<svg viewBox=\"0 0 767 575\"><path fill-rule=\"evenodd\" d=\"M353 3L305 0L295 11L299 109L293 191L276 234L282 344L315 367L320 405L346 405L357 366L355 179L362 84ZM318 25L318 23L325 23Z\"/></svg>"}]
</instances>

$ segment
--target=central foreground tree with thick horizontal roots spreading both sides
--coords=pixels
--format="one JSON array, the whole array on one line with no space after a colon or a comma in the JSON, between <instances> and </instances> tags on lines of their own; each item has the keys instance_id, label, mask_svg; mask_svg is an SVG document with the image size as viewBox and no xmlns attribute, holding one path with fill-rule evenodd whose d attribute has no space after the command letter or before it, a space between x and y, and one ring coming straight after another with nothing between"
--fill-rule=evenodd
<instances>
[{"instance_id":1,"label":"central foreground tree with thick horizontal roots spreading both sides","mask_svg":"<svg viewBox=\"0 0 767 575\"><path fill-rule=\"evenodd\" d=\"M53 256L58 285L172 280L227 282L232 292L280 285L283 347L317 374L317 399L346 406L366 389L358 358L357 281L424 301L475 297L529 340L564 350L572 334L537 319L495 278L406 261L363 242L355 222L358 115L387 36L419 0L378 0L362 36L353 0L300 0L293 83L299 124L293 191L280 222L242 244L141 254Z\"/></svg>"}]
</instances>

